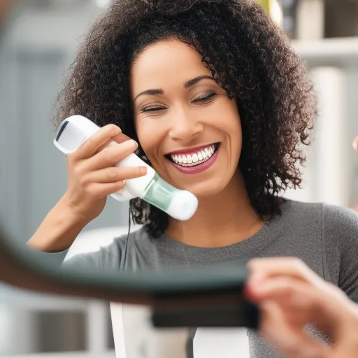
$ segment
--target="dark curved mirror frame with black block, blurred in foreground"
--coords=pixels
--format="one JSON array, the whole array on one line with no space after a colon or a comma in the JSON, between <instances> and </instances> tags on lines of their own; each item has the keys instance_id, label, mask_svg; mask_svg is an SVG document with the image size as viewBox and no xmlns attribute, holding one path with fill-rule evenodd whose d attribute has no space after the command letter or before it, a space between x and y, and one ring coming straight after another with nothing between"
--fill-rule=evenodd
<instances>
[{"instance_id":1,"label":"dark curved mirror frame with black block, blurred in foreground","mask_svg":"<svg viewBox=\"0 0 358 358\"><path fill-rule=\"evenodd\" d=\"M43 293L150 306L155 327L259 326L259 309L243 294L246 262L190 275L118 274L53 267L41 263L36 253L0 231L0 281Z\"/></svg>"}]
</instances>

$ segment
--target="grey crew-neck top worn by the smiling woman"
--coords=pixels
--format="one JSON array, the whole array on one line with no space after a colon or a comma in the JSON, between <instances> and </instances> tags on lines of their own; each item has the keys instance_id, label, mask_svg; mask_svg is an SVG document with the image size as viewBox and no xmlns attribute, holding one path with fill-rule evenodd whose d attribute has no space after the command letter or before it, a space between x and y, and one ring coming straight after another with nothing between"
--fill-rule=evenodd
<instances>
[{"instance_id":1,"label":"grey crew-neck top worn by the smiling woman","mask_svg":"<svg viewBox=\"0 0 358 358\"><path fill-rule=\"evenodd\" d=\"M341 287L358 302L358 215L324 203L287 201L257 234L220 248L199 248L165 234L150 238L143 229L116 238L98 252L76 255L66 266L96 266L126 272L199 268L253 257L294 256L315 273ZM127 255L124 247L127 241ZM280 357L259 333L249 331L250 358Z\"/></svg>"}]
</instances>

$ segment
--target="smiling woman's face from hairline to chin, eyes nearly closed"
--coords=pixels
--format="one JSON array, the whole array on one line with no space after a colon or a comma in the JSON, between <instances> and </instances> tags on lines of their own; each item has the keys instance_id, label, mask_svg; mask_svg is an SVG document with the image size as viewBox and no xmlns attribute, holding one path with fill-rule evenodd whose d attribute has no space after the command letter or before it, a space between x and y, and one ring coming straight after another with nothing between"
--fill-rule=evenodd
<instances>
[{"instance_id":1,"label":"smiling woman's face from hairline to chin, eyes nearly closed","mask_svg":"<svg viewBox=\"0 0 358 358\"><path fill-rule=\"evenodd\" d=\"M241 153L236 102L178 40L145 48L131 68L136 133L159 176L198 197L234 178Z\"/></svg>"}]
</instances>

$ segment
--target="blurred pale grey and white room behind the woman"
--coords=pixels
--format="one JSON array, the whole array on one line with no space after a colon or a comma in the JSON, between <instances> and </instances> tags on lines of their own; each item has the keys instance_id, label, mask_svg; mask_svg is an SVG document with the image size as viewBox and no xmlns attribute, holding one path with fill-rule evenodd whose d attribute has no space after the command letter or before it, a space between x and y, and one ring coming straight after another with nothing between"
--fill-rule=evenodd
<instances>
[{"instance_id":1,"label":"blurred pale grey and white room behind the woman","mask_svg":"<svg viewBox=\"0 0 358 358\"><path fill-rule=\"evenodd\" d=\"M0 213L23 242L66 189L51 114L78 43L109 3L0 0ZM282 0L272 13L306 59L320 99L303 188L286 196L357 206L358 0ZM85 230L126 225L127 209L108 199ZM106 303L0 285L0 357L106 358L113 349Z\"/></svg>"}]
</instances>

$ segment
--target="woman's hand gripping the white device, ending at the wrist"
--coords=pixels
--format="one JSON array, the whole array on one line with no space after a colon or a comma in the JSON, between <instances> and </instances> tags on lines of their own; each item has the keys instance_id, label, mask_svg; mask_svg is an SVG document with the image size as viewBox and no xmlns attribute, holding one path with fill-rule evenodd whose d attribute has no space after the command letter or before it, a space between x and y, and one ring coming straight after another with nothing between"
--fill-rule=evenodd
<instances>
[{"instance_id":1,"label":"woman's hand gripping the white device, ending at the wrist","mask_svg":"<svg viewBox=\"0 0 358 358\"><path fill-rule=\"evenodd\" d=\"M108 146L111 141L118 144ZM87 224L102 212L108 195L124 188L125 180L145 176L145 166L113 166L136 148L136 141L124 136L119 127L108 124L67 155L69 185L63 201L72 217Z\"/></svg>"}]
</instances>

